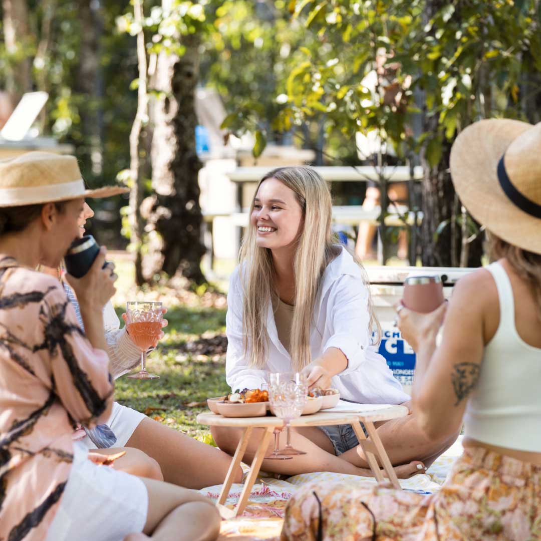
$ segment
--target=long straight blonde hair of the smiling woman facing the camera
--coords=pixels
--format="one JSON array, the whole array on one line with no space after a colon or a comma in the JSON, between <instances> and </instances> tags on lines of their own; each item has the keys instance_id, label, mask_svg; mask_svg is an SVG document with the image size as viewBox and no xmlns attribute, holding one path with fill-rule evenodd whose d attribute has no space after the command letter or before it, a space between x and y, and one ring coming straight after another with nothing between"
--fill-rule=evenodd
<instances>
[{"instance_id":1,"label":"long straight blonde hair of the smiling woman facing the camera","mask_svg":"<svg viewBox=\"0 0 541 541\"><path fill-rule=\"evenodd\" d=\"M299 371L311 362L310 329L321 280L327 265L340 254L331 230L332 200L327 183L314 169L309 167L281 167L267 173L259 187L267 179L279 180L293 190L303 216L302 233L299 235L293 261L295 297L291 326L290 353L292 367ZM255 196L254 196L255 199ZM250 205L250 216L254 201ZM269 302L278 300L274 287L275 271L271 249L256 245L255 228L250 224L240 249L239 274L244 293L242 309L242 330L244 353L249 365L263 368L266 365L269 336L267 332L267 311ZM364 281L366 273L360 261ZM368 296L371 330L377 330L378 341L381 327L375 318L372 298Z\"/></svg>"}]
</instances>

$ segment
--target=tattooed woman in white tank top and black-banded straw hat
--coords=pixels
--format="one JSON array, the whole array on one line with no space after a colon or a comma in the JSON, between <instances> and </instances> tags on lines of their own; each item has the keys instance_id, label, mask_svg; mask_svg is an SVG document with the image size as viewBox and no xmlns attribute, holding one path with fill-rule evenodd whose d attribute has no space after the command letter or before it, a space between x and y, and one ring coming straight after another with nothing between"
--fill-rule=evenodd
<instances>
[{"instance_id":1,"label":"tattooed woman in white tank top and black-banded straw hat","mask_svg":"<svg viewBox=\"0 0 541 541\"><path fill-rule=\"evenodd\" d=\"M431 496L303 487L282 539L541 539L541 123L484 120L451 151L460 200L493 259L431 314L397 306L417 352L413 411L430 437L464 427L464 453ZM444 320L443 340L436 335Z\"/></svg>"}]
</instances>

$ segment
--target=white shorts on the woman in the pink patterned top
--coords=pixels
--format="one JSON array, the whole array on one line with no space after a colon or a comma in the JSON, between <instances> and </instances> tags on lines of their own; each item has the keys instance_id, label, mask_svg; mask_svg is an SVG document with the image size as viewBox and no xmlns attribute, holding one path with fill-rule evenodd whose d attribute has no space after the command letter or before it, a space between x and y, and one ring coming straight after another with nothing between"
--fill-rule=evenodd
<instances>
[{"instance_id":1,"label":"white shorts on the woman in the pink patterned top","mask_svg":"<svg viewBox=\"0 0 541 541\"><path fill-rule=\"evenodd\" d=\"M74 461L47 541L122 541L143 531L147 487L138 477L97 466L74 445Z\"/></svg>"}]
</instances>

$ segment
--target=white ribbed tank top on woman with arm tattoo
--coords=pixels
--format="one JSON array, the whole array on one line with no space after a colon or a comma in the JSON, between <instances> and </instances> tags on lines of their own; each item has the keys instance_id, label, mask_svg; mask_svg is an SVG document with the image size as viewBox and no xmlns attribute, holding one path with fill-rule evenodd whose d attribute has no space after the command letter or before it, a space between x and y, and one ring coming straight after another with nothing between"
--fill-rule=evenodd
<instances>
[{"instance_id":1,"label":"white ribbed tank top on woman with arm tattoo","mask_svg":"<svg viewBox=\"0 0 541 541\"><path fill-rule=\"evenodd\" d=\"M487 444L540 452L541 348L526 344L517 332L513 289L505 269L498 262L486 268L498 288L500 322L484 349L464 433Z\"/></svg>"}]
</instances>

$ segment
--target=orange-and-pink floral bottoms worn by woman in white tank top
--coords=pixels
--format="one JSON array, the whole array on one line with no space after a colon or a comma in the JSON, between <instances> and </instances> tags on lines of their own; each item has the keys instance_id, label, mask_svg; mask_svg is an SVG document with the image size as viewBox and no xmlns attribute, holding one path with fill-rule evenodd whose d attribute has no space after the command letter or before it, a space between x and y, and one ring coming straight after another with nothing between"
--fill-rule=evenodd
<instances>
[{"instance_id":1,"label":"orange-and-pink floral bottoms worn by woman in white tank top","mask_svg":"<svg viewBox=\"0 0 541 541\"><path fill-rule=\"evenodd\" d=\"M306 485L282 541L541 540L541 466L468 447L436 494Z\"/></svg>"}]
</instances>

